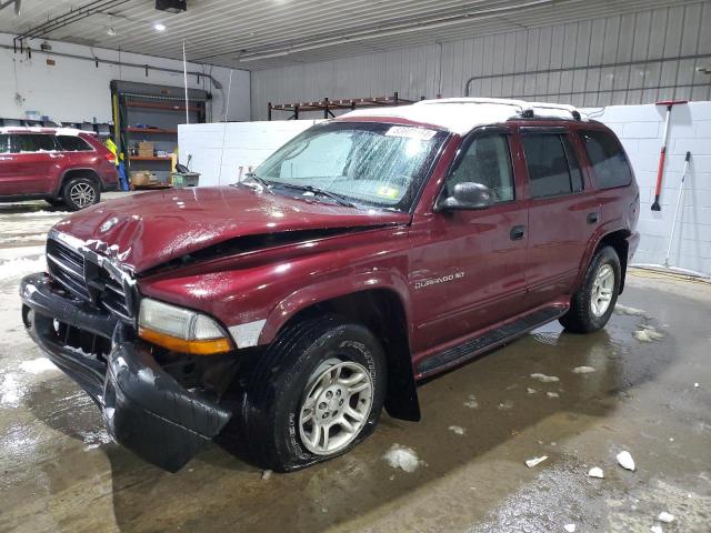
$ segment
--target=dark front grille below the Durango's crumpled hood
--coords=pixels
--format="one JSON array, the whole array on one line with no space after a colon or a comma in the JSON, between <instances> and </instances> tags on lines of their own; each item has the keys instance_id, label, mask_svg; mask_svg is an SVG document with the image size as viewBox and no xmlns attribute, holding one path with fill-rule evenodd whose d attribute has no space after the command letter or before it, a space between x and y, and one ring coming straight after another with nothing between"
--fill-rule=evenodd
<instances>
[{"instance_id":1,"label":"dark front grille below the Durango's crumpled hood","mask_svg":"<svg viewBox=\"0 0 711 533\"><path fill-rule=\"evenodd\" d=\"M54 239L47 241L49 273L74 296L109 311L124 321L132 321L131 298L120 272L102 266L104 258L93 252L82 253Z\"/></svg>"}]
</instances>

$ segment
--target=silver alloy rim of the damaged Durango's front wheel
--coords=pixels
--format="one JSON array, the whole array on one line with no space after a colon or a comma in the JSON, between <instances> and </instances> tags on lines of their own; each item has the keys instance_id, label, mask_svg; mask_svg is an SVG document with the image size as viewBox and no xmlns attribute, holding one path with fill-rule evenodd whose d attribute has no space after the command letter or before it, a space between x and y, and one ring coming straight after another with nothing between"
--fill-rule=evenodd
<instances>
[{"instance_id":1,"label":"silver alloy rim of the damaged Durango's front wheel","mask_svg":"<svg viewBox=\"0 0 711 533\"><path fill-rule=\"evenodd\" d=\"M317 455L338 453L358 436L372 404L368 369L352 361L326 361L311 374L299 410L301 442Z\"/></svg>"}]
</instances>

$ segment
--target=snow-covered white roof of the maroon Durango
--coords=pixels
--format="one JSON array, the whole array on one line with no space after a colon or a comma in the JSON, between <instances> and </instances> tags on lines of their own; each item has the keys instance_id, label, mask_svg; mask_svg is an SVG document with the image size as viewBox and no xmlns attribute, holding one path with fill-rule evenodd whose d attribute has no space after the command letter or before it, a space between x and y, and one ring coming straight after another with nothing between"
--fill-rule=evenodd
<instances>
[{"instance_id":1,"label":"snow-covered white roof of the maroon Durango","mask_svg":"<svg viewBox=\"0 0 711 533\"><path fill-rule=\"evenodd\" d=\"M520 118L524 110L533 110L538 118L573 119L572 105L558 103L527 102L524 100L504 100L498 98L443 98L439 100L422 100L410 105L397 108L358 109L341 117L397 117L425 124L437 125L452 133L463 135L474 128L487 124L505 122ZM588 121L588 117L581 119Z\"/></svg>"}]
</instances>

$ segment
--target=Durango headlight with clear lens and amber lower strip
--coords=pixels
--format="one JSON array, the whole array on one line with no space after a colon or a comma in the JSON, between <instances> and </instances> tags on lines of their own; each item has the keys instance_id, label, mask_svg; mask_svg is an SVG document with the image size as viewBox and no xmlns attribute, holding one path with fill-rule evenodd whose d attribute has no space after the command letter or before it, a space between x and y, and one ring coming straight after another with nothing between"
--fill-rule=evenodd
<instances>
[{"instance_id":1,"label":"Durango headlight with clear lens and amber lower strip","mask_svg":"<svg viewBox=\"0 0 711 533\"><path fill-rule=\"evenodd\" d=\"M176 352L211 355L229 352L232 344L210 316L144 298L138 313L138 335Z\"/></svg>"}]
</instances>

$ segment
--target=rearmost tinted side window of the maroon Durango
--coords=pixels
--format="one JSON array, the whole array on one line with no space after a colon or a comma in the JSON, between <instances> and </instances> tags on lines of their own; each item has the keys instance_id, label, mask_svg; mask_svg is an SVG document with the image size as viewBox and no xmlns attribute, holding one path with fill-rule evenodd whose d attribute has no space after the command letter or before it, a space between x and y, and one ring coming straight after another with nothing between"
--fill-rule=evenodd
<instances>
[{"instance_id":1,"label":"rearmost tinted side window of the maroon Durango","mask_svg":"<svg viewBox=\"0 0 711 533\"><path fill-rule=\"evenodd\" d=\"M624 187L632 182L632 170L618 140L608 131L581 131L598 189Z\"/></svg>"}]
</instances>

